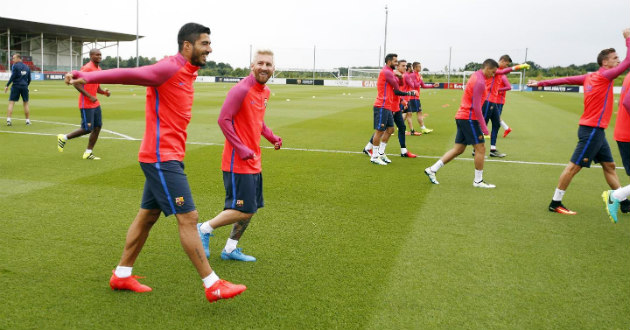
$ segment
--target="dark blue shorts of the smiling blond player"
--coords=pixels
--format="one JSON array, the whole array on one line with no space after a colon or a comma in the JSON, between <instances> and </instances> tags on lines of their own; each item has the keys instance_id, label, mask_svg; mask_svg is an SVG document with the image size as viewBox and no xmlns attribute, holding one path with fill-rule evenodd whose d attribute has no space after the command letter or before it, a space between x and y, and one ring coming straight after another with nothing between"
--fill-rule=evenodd
<instances>
[{"instance_id":1,"label":"dark blue shorts of the smiling blond player","mask_svg":"<svg viewBox=\"0 0 630 330\"><path fill-rule=\"evenodd\" d=\"M265 206L262 197L262 173L238 174L223 171L225 207L243 213L256 213Z\"/></svg>"}]
</instances>

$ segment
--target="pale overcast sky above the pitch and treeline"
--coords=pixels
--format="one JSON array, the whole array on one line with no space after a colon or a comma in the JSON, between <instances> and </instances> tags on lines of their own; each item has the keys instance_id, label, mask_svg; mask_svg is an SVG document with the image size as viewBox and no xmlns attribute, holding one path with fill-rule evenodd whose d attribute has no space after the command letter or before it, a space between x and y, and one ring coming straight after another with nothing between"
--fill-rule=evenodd
<instances>
[{"instance_id":1,"label":"pale overcast sky above the pitch and treeline","mask_svg":"<svg viewBox=\"0 0 630 330\"><path fill-rule=\"evenodd\" d=\"M594 62L616 48L630 27L629 0L139 0L140 55L161 58L177 51L177 31L187 22L207 25L210 60L248 66L250 45L276 52L279 68L332 69L379 65L389 8L387 52L437 71L510 54L542 66ZM4 0L2 1L4 2ZM4 4L1 16L88 29L136 33L136 2L29 0ZM135 42L121 44L123 58ZM381 49L381 52L383 50ZM115 47L103 55L116 55ZM381 56L382 60L382 56Z\"/></svg>"}]
</instances>

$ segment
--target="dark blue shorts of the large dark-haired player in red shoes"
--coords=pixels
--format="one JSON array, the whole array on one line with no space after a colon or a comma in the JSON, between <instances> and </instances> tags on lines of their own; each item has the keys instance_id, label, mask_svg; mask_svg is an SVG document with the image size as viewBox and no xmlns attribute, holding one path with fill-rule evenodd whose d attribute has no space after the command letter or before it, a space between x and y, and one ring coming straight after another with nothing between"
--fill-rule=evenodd
<instances>
[{"instance_id":1,"label":"dark blue shorts of the large dark-haired player in red shoes","mask_svg":"<svg viewBox=\"0 0 630 330\"><path fill-rule=\"evenodd\" d=\"M169 160L161 163L140 163L146 181L140 207L146 210L160 209L164 216L188 213L196 210L184 163Z\"/></svg>"}]
</instances>

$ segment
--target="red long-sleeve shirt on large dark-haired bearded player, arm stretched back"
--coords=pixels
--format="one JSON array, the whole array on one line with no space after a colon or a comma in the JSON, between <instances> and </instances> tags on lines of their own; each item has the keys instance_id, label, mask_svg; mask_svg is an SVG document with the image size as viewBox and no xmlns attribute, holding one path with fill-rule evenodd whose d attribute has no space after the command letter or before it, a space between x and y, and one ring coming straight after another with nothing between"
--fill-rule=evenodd
<instances>
[{"instance_id":1,"label":"red long-sleeve shirt on large dark-haired bearded player, arm stretched back","mask_svg":"<svg viewBox=\"0 0 630 330\"><path fill-rule=\"evenodd\" d=\"M193 83L198 66L180 53L139 68L96 72L73 71L87 83L147 86L144 137L138 152L143 163L182 161L186 154L186 128L190 123Z\"/></svg>"}]
</instances>

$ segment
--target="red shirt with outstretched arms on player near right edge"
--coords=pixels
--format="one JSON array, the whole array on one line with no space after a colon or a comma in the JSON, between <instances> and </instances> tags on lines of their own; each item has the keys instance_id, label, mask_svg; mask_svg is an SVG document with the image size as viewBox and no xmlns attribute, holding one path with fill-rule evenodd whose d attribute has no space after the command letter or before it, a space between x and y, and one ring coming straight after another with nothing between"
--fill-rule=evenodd
<instances>
[{"instance_id":1,"label":"red shirt with outstretched arms on player near right edge","mask_svg":"<svg viewBox=\"0 0 630 330\"><path fill-rule=\"evenodd\" d=\"M614 68L599 70L580 76L543 80L538 86L583 85L584 113L580 125L606 128L613 108L613 82L630 67L630 38L626 39L626 58Z\"/></svg>"}]
</instances>

